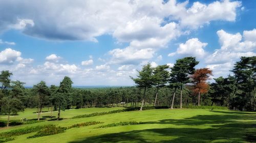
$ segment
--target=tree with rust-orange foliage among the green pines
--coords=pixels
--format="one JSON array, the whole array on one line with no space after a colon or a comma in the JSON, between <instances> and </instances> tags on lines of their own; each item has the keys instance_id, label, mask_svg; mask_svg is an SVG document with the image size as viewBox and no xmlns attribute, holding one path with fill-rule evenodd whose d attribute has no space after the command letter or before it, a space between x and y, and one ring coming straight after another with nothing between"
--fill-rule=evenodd
<instances>
[{"instance_id":1,"label":"tree with rust-orange foliage among the green pines","mask_svg":"<svg viewBox=\"0 0 256 143\"><path fill-rule=\"evenodd\" d=\"M196 72L190 76L194 83L193 91L198 93L198 106L200 106L200 94L208 91L208 84L206 80L210 79L210 75L212 75L212 70L209 68L202 68L197 69Z\"/></svg>"}]
</instances>

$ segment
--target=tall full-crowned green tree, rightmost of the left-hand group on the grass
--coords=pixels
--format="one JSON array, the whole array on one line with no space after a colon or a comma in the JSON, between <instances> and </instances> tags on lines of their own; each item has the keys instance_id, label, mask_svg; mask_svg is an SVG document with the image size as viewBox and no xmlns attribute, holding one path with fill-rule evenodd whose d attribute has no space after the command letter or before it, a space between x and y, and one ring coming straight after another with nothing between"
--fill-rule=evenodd
<instances>
[{"instance_id":1,"label":"tall full-crowned green tree, rightmost of the left-hand group on the grass","mask_svg":"<svg viewBox=\"0 0 256 143\"><path fill-rule=\"evenodd\" d=\"M60 110L65 110L67 106L72 105L72 83L73 81L71 80L71 78L65 76L63 80L59 83L59 89L57 93L54 95L53 102L58 107L57 121L60 117Z\"/></svg>"}]
</instances>

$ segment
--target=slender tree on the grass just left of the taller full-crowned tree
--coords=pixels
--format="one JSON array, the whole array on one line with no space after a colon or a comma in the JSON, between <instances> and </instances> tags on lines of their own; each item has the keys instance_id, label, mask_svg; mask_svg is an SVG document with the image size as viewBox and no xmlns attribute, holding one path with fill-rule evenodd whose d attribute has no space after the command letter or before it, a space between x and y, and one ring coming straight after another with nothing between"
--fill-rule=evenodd
<instances>
[{"instance_id":1,"label":"slender tree on the grass just left of the taller full-crowned tree","mask_svg":"<svg viewBox=\"0 0 256 143\"><path fill-rule=\"evenodd\" d=\"M45 81L40 81L38 84L34 85L33 89L35 93L38 95L38 114L37 120L40 120L40 114L42 111L42 107L45 104L49 103L50 90L46 85Z\"/></svg>"}]
</instances>

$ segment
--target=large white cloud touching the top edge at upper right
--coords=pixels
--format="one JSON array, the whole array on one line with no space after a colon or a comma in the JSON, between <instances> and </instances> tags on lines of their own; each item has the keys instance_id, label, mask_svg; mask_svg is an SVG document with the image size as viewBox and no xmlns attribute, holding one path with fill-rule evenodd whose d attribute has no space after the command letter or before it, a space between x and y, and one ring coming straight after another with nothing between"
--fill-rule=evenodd
<instances>
[{"instance_id":1,"label":"large white cloud touching the top edge at upper right","mask_svg":"<svg viewBox=\"0 0 256 143\"><path fill-rule=\"evenodd\" d=\"M212 20L236 20L236 9L240 6L241 2L229 2L229 0L216 1L209 5L195 2L190 8L175 17L181 20L181 25L197 28Z\"/></svg>"}]
</instances>

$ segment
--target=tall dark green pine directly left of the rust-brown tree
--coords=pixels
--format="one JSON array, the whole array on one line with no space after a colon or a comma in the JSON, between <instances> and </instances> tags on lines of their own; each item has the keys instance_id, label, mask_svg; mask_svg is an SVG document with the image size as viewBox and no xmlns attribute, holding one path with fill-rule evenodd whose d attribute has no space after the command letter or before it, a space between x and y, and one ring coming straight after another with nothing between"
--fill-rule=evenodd
<instances>
[{"instance_id":1,"label":"tall dark green pine directly left of the rust-brown tree","mask_svg":"<svg viewBox=\"0 0 256 143\"><path fill-rule=\"evenodd\" d=\"M182 90L183 85L190 82L189 81L189 75L194 74L195 72L195 66L199 62L196 61L195 57L185 57L182 59L178 59L176 63L174 64L174 67L170 68L170 84L171 87L175 88L173 100L175 99L175 93L177 90L177 87L180 87L180 108L182 108ZM173 103L173 101L172 101ZM173 106L173 105L172 105ZM172 109L172 107L171 107Z\"/></svg>"}]
</instances>

